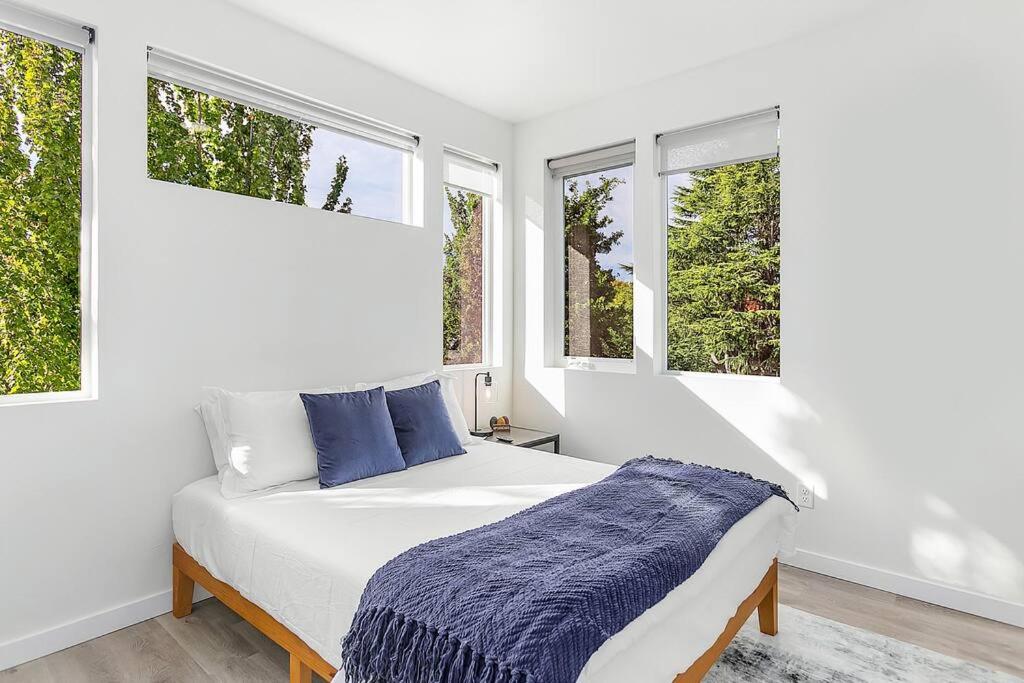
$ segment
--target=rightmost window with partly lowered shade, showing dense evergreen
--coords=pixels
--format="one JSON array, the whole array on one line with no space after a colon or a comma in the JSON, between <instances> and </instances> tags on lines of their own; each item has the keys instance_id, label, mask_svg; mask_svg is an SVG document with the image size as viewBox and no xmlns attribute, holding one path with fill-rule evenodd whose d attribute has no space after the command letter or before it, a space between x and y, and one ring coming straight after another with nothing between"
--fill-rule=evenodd
<instances>
[{"instance_id":1,"label":"rightmost window with partly lowered shade, showing dense evergreen","mask_svg":"<svg viewBox=\"0 0 1024 683\"><path fill-rule=\"evenodd\" d=\"M666 367L779 374L778 111L658 138Z\"/></svg>"}]
</instances>

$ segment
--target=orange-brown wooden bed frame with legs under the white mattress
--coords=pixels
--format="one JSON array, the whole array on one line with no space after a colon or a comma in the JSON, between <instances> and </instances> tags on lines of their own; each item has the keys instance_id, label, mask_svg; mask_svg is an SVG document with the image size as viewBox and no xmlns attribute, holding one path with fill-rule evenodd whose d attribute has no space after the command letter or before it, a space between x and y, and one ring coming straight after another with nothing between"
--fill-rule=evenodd
<instances>
[{"instance_id":1,"label":"orange-brown wooden bed frame with legs under the white mattress","mask_svg":"<svg viewBox=\"0 0 1024 683\"><path fill-rule=\"evenodd\" d=\"M173 577L172 612L176 617L181 618L191 613L193 591L196 584L199 584L234 610L239 616L249 622L257 631L288 651L291 683L311 683L313 674L330 681L338 673L337 669L316 654L311 647L285 628L281 622L242 597L241 593L224 582L214 579L203 565L194 560L176 543L172 551L171 567ZM764 579L761 580L758 587L745 600L739 603L736 613L725 625L725 630L722 631L722 635L718 637L715 644L697 657L689 669L676 676L673 683L698 683L725 651L733 636L754 613L755 609L758 610L761 633L769 636L778 633L778 560L772 560L771 566L768 567L768 571L765 572Z\"/></svg>"}]
</instances>

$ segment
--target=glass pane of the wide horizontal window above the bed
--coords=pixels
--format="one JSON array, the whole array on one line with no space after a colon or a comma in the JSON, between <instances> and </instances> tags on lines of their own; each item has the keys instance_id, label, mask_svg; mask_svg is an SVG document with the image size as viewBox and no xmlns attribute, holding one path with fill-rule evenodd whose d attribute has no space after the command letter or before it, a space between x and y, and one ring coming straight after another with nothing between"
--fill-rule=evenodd
<instances>
[{"instance_id":1,"label":"glass pane of the wide horizontal window above the bed","mask_svg":"<svg viewBox=\"0 0 1024 683\"><path fill-rule=\"evenodd\" d=\"M148 81L151 178L401 221L408 152Z\"/></svg>"}]
</instances>

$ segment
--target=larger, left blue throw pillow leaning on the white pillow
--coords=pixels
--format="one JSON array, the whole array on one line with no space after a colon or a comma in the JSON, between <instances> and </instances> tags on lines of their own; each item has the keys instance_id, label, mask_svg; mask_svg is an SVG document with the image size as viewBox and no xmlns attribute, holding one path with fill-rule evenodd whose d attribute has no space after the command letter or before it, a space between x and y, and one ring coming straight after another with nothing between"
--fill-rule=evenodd
<instances>
[{"instance_id":1,"label":"larger, left blue throw pillow leaning on the white pillow","mask_svg":"<svg viewBox=\"0 0 1024 683\"><path fill-rule=\"evenodd\" d=\"M406 469L384 389L300 393L321 488Z\"/></svg>"}]
</instances>

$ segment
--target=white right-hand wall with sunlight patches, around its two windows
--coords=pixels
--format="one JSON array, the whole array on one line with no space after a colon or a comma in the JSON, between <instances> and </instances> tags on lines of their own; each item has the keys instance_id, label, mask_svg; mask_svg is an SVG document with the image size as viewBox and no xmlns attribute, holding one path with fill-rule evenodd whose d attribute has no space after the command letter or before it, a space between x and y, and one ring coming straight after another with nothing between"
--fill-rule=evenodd
<instances>
[{"instance_id":1,"label":"white right-hand wall with sunlight patches, around its two windows","mask_svg":"<svg viewBox=\"0 0 1024 683\"><path fill-rule=\"evenodd\" d=\"M1024 625L1021 35L1010 0L888 3L517 126L515 419L812 483L797 562ZM782 379L659 374L654 135L773 104ZM630 138L636 373L545 368L544 160Z\"/></svg>"}]
</instances>

